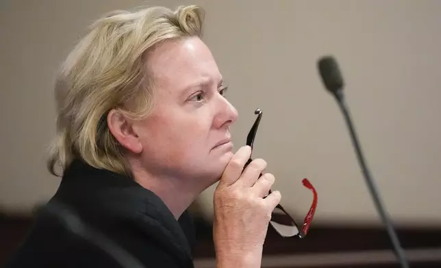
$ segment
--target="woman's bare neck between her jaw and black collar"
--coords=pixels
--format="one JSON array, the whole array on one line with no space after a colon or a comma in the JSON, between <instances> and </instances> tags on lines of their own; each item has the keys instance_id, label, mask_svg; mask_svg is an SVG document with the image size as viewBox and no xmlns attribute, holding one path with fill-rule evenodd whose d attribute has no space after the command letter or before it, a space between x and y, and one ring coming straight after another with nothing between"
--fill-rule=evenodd
<instances>
[{"instance_id":1,"label":"woman's bare neck between her jaw and black collar","mask_svg":"<svg viewBox=\"0 0 441 268\"><path fill-rule=\"evenodd\" d=\"M197 198L198 193L188 189L184 180L151 174L140 165L132 165L132 172L136 183L159 196L175 219L179 219Z\"/></svg>"}]
</instances>

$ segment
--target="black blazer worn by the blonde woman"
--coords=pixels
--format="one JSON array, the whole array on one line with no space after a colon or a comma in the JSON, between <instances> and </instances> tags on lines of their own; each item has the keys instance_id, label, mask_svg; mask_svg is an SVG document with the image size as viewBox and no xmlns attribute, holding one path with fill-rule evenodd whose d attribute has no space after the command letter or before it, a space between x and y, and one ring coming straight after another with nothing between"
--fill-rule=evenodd
<instances>
[{"instance_id":1,"label":"black blazer worn by the blonde woman","mask_svg":"<svg viewBox=\"0 0 441 268\"><path fill-rule=\"evenodd\" d=\"M194 228L130 178L75 161L6 267L193 267Z\"/></svg>"}]
</instances>

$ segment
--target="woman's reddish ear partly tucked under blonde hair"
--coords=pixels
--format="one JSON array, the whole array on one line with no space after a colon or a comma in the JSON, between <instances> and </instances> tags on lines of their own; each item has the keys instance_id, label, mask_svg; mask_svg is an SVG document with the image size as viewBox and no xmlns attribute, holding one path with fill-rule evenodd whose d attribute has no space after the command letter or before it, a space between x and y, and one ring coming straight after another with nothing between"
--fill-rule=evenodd
<instances>
[{"instance_id":1,"label":"woman's reddish ear partly tucked under blonde hair","mask_svg":"<svg viewBox=\"0 0 441 268\"><path fill-rule=\"evenodd\" d=\"M110 110L107 117L110 133L127 150L136 154L142 152L142 144L135 133L131 120L126 118L121 111Z\"/></svg>"}]
</instances>

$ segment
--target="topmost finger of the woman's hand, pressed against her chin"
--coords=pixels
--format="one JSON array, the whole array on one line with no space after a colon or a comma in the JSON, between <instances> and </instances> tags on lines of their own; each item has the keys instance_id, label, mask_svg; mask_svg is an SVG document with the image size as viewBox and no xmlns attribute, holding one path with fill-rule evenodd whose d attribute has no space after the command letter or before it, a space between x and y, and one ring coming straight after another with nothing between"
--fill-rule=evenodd
<instances>
[{"instance_id":1,"label":"topmost finger of the woman's hand, pressed against her chin","mask_svg":"<svg viewBox=\"0 0 441 268\"><path fill-rule=\"evenodd\" d=\"M231 157L231 160L225 167L225 170L220 178L219 183L225 183L226 185L231 185L238 180L240 174L244 170L244 165L247 163L251 156L251 147L242 146L239 150Z\"/></svg>"}]
</instances>

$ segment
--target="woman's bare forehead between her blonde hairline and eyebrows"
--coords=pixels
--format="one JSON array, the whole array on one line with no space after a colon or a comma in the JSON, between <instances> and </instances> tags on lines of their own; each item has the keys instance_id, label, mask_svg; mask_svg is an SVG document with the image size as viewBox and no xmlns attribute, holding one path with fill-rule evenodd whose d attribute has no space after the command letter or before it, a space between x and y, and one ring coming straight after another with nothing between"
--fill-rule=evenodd
<instances>
[{"instance_id":1,"label":"woman's bare forehead between her blonde hairline and eyebrows","mask_svg":"<svg viewBox=\"0 0 441 268\"><path fill-rule=\"evenodd\" d=\"M222 77L214 57L197 37L167 40L147 55L155 85L179 93L200 83L218 83Z\"/></svg>"}]
</instances>

